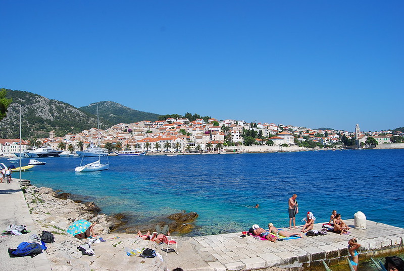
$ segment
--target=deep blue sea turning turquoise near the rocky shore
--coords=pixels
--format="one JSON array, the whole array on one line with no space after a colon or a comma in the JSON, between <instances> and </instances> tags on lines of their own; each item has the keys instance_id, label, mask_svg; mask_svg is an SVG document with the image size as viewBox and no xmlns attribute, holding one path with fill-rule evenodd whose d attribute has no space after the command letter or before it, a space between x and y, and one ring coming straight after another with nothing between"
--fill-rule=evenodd
<instances>
[{"instance_id":1,"label":"deep blue sea turning turquoise near the rocky shore","mask_svg":"<svg viewBox=\"0 0 404 271\"><path fill-rule=\"evenodd\" d=\"M308 211L316 222L328 222L336 209L342 219L362 211L369 220L402 227L403 158L404 149L113 156L108 171L76 173L81 158L55 157L39 159L46 165L23 172L22 178L85 195L104 213L126 214L129 225L195 211L197 230L190 235L235 232L269 222L285 227L293 193L299 225ZM27 163L24 158L23 165ZM251 208L257 203L260 208Z\"/></svg>"}]
</instances>

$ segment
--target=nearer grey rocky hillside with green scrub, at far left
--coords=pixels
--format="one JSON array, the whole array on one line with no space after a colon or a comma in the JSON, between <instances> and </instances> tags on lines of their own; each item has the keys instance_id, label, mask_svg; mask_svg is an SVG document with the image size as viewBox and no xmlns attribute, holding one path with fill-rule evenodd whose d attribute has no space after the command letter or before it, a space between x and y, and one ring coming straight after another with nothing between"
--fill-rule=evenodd
<instances>
[{"instance_id":1,"label":"nearer grey rocky hillside with green scrub, at far left","mask_svg":"<svg viewBox=\"0 0 404 271\"><path fill-rule=\"evenodd\" d=\"M62 101L9 89L7 97L12 98L13 102L8 108L7 117L0 122L0 138L19 138L20 104L22 138L48 137L51 130L56 132L56 136L63 136L97 126L96 116ZM100 120L100 128L110 126L108 121Z\"/></svg>"}]
</instances>

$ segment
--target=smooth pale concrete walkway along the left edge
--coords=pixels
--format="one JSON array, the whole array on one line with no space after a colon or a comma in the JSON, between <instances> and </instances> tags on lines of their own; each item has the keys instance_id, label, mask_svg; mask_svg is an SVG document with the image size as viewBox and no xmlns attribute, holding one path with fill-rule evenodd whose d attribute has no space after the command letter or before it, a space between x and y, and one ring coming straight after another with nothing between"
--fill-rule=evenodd
<instances>
[{"instance_id":1,"label":"smooth pale concrete walkway along the left edge","mask_svg":"<svg viewBox=\"0 0 404 271\"><path fill-rule=\"evenodd\" d=\"M22 242L27 242L31 234L38 234L24 194L18 185L18 180L13 179L10 184L0 183L0 206L2 206L0 215L0 230L6 230L8 225L25 225L30 233L23 235L10 235L0 238L0 262L2 270L25 270L25 271L49 271L51 265L46 258L45 253L31 258L18 257L10 258L9 248L17 248Z\"/></svg>"}]
</instances>

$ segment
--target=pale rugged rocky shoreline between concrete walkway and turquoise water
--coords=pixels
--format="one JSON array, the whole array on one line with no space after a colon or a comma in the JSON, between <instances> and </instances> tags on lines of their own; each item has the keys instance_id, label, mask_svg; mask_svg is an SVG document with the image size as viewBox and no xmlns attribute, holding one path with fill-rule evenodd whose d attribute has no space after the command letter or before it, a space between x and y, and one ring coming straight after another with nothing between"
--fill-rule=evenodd
<instances>
[{"instance_id":1,"label":"pale rugged rocky shoreline between concrete walkway and turquoise water","mask_svg":"<svg viewBox=\"0 0 404 271\"><path fill-rule=\"evenodd\" d=\"M47 258L51 262L52 270L150 270L167 271L181 266L182 257L170 257L169 261L162 262L158 257L144 259L140 257L129 257L125 248L151 248L157 249L155 242L145 241L138 238L136 234L116 233L114 230L122 225L122 216L108 216L99 213L99 208L94 202L75 202L66 193L57 193L51 188L22 185L26 203L35 222L38 233L42 231L52 232L55 236L55 243L48 244ZM192 225L189 223L197 217L196 213L177 213L170 215L172 222L169 224L172 232L189 231ZM93 248L95 256L86 256L77 249L77 246L88 243L88 239L79 240L66 233L67 227L76 220L85 219L94 226L94 233L103 237L106 242L95 243ZM178 227L176 227L176 225ZM188 225L188 226L184 226ZM190 226L189 226L190 225ZM143 231L155 231L156 224L143 227ZM152 228L153 227L153 228ZM171 228L173 227L173 228ZM127 232L137 233L137 228ZM98 238L97 237L97 238ZM194 257L198 252L192 250L192 241L189 237L181 239L183 246L188 246L188 253ZM170 253L172 254L172 253ZM175 254L175 253L174 253ZM191 256L190 254L190 256ZM182 253L182 256L185 256ZM199 257L198 257L199 259ZM201 264L203 260L199 259ZM173 266L173 267L172 267ZM185 266L183 266L185 267Z\"/></svg>"}]
</instances>

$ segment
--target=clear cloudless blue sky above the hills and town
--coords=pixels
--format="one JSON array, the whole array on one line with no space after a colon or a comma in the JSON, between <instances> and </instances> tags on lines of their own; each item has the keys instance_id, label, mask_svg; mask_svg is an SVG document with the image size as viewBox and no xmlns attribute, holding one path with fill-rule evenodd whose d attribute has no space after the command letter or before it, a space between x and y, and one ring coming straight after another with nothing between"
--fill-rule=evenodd
<instances>
[{"instance_id":1,"label":"clear cloudless blue sky above the hills and town","mask_svg":"<svg viewBox=\"0 0 404 271\"><path fill-rule=\"evenodd\" d=\"M404 126L403 1L0 0L0 87L76 107Z\"/></svg>"}]
</instances>

